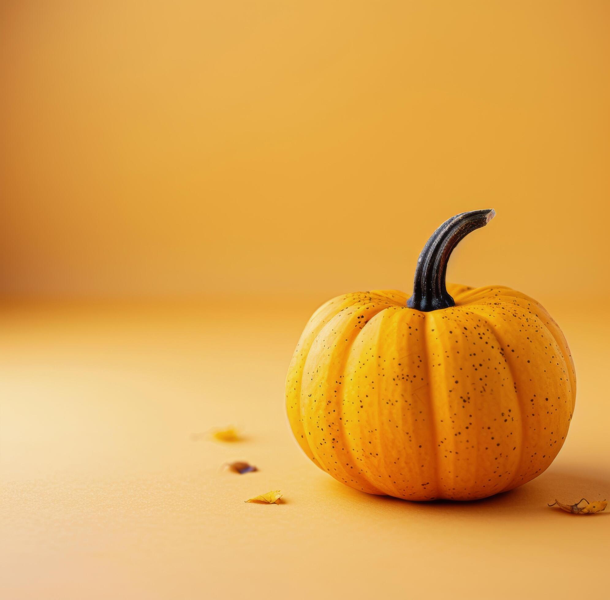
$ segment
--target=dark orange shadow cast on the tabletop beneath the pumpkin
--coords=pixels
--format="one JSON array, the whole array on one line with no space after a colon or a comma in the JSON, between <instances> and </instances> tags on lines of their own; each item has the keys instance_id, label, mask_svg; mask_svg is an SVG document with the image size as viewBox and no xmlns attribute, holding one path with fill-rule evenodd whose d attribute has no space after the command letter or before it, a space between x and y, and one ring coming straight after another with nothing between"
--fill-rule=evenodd
<instances>
[{"instance_id":1,"label":"dark orange shadow cast on the tabletop beneath the pumpkin","mask_svg":"<svg viewBox=\"0 0 610 600\"><path fill-rule=\"evenodd\" d=\"M335 488L338 482L328 482ZM342 485L341 487L346 488ZM610 499L610 474L608 471L576 466L557 467L548 470L536 479L514 490L506 491L489 498L473 501L436 500L431 502L411 502L391 496L373 496L346 488L351 499L359 498L361 502L374 502L387 510L403 512L405 509L422 516L464 516L468 518L489 513L493 518L510 517L512 515L539 517L547 513L549 516L563 516L568 513L555 508L550 510L548 504L558 499L564 504L572 504L581 498L588 501ZM596 516L610 516L610 512L599 513Z\"/></svg>"}]
</instances>

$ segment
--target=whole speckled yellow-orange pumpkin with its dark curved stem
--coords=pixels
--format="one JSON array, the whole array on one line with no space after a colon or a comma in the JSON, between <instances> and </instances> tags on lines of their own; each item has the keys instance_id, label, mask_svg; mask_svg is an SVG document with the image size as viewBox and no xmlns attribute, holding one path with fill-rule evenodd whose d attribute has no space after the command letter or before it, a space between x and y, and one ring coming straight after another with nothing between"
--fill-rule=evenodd
<instances>
[{"instance_id":1,"label":"whole speckled yellow-orange pumpkin with its dark curved stem","mask_svg":"<svg viewBox=\"0 0 610 600\"><path fill-rule=\"evenodd\" d=\"M425 501L511 490L553 462L576 381L564 335L525 294L445 284L451 251L493 210L445 221L409 297L338 296L310 318L286 381L305 454L343 484Z\"/></svg>"}]
</instances>

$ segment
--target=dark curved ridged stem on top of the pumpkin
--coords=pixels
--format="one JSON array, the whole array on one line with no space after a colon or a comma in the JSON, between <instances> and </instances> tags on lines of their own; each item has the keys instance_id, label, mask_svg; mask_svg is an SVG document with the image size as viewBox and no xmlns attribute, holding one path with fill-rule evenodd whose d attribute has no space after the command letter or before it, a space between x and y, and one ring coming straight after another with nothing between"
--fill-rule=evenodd
<instances>
[{"instance_id":1,"label":"dark curved ridged stem on top of the pumpkin","mask_svg":"<svg viewBox=\"0 0 610 600\"><path fill-rule=\"evenodd\" d=\"M407 300L410 309L429 312L456 305L445 285L451 252L470 232L486 226L493 216L495 211L492 209L460 213L445 221L430 236L417 259L413 294Z\"/></svg>"}]
</instances>

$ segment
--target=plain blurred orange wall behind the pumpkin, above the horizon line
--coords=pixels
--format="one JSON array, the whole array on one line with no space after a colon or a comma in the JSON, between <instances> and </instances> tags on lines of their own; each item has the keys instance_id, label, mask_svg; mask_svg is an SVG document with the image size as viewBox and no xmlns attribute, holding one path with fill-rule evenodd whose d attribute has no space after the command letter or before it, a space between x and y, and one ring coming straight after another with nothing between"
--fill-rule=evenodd
<instances>
[{"instance_id":1,"label":"plain blurred orange wall behind the pumpkin, above the horizon line","mask_svg":"<svg viewBox=\"0 0 610 600\"><path fill-rule=\"evenodd\" d=\"M406 291L483 208L450 280L610 293L608 2L0 10L10 295Z\"/></svg>"}]
</instances>

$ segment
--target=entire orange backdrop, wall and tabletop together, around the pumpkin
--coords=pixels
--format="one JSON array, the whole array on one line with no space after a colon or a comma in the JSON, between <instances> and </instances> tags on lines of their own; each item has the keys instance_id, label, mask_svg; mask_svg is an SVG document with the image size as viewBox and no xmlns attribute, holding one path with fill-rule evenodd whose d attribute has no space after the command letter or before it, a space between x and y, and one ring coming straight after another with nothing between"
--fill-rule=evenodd
<instances>
[{"instance_id":1,"label":"entire orange backdrop, wall and tabletop together, around the pumpkin","mask_svg":"<svg viewBox=\"0 0 610 600\"><path fill-rule=\"evenodd\" d=\"M610 496L609 25L592 0L2 2L0 595L605 593L610 517L545 504ZM561 324L564 449L476 503L345 488L285 420L300 331L408 290L479 208L450 280ZM246 440L190 437L228 423Z\"/></svg>"}]
</instances>

